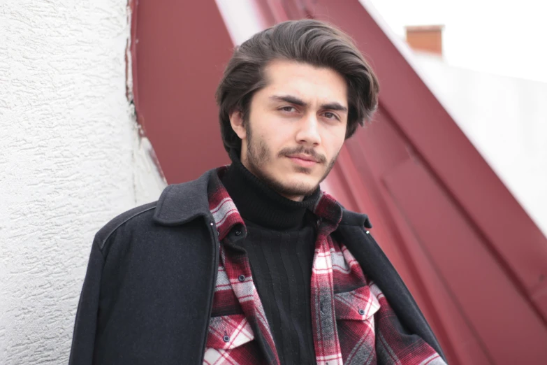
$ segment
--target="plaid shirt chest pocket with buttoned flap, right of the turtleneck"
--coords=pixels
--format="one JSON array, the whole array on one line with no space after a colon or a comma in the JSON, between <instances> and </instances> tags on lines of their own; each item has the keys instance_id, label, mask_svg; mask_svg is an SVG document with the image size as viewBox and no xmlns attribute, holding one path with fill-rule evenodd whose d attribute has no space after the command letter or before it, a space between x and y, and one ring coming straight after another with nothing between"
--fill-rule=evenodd
<instances>
[{"instance_id":1,"label":"plaid shirt chest pocket with buttoned flap, right of the turtleneck","mask_svg":"<svg viewBox=\"0 0 547 365\"><path fill-rule=\"evenodd\" d=\"M365 285L335 294L335 315L344 364L375 364L374 313L380 303Z\"/></svg>"}]
</instances>

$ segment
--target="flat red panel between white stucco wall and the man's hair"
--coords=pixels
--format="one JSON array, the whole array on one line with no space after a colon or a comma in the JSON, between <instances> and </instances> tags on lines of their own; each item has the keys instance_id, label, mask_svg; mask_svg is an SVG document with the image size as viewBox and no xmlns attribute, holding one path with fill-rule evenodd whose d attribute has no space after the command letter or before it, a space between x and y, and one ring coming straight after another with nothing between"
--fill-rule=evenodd
<instances>
[{"instance_id":1,"label":"flat red panel between white stucco wall and the man's hair","mask_svg":"<svg viewBox=\"0 0 547 365\"><path fill-rule=\"evenodd\" d=\"M227 164L214 91L233 44L216 4L138 1L133 17L138 121L167 181Z\"/></svg>"}]
</instances>

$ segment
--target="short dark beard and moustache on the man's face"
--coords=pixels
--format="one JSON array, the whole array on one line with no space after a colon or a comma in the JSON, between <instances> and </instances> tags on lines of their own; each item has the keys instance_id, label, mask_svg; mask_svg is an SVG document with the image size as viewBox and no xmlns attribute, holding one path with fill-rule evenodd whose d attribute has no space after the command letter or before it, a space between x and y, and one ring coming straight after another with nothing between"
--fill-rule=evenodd
<instances>
[{"instance_id":1,"label":"short dark beard and moustache on the man's face","mask_svg":"<svg viewBox=\"0 0 547 365\"><path fill-rule=\"evenodd\" d=\"M252 138L251 129L248 127L249 122L247 121L245 125L245 130L247 134L247 168L251 173L254 174L257 178L262 180L265 185L268 185L270 189L273 189L278 194L281 194L283 196L308 196L311 195L317 187L319 187L319 184L325 180L325 178L330 173L330 170L333 169L336 159L338 158L338 155L340 154L340 150L337 152L335 157L328 162L327 169L319 182L312 187L311 189L304 185L299 185L298 183L296 185L287 185L283 181L275 178L275 176L270 176L261 166L267 166L269 162L272 161L272 155L270 153L270 150L268 149L268 145L265 143L263 139L259 139L257 141L254 141L254 138ZM293 148L291 150L281 150L277 156L277 158L283 158L289 153L296 154L296 153L307 153L308 155L314 155L315 152L313 150L309 150L304 148L303 146L300 146L300 148ZM326 164L326 159L323 156L318 156L318 158L321 160L321 164ZM311 173L311 169L307 169L302 166L296 166L296 171L300 173Z\"/></svg>"}]
</instances>

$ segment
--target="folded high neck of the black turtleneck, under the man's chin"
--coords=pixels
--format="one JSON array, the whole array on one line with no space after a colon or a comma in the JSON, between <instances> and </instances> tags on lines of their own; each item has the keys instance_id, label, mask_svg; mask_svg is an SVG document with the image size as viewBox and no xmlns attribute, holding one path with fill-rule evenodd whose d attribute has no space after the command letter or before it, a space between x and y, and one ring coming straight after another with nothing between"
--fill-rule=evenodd
<instances>
[{"instance_id":1,"label":"folded high neck of the black turtleneck, under the man's chin","mask_svg":"<svg viewBox=\"0 0 547 365\"><path fill-rule=\"evenodd\" d=\"M302 227L306 211L314 210L321 195L319 187L302 201L287 199L247 170L235 151L230 157L232 164L221 181L244 220L272 229Z\"/></svg>"}]
</instances>

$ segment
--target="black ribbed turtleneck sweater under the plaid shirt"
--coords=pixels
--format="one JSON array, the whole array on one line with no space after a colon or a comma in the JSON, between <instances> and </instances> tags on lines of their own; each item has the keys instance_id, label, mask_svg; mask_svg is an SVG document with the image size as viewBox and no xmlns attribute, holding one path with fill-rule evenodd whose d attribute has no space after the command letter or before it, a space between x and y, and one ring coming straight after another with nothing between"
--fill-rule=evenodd
<instances>
[{"instance_id":1,"label":"black ribbed turtleneck sweater under the plaid shirt","mask_svg":"<svg viewBox=\"0 0 547 365\"><path fill-rule=\"evenodd\" d=\"M237 156L221 178L247 226L254 284L284 365L316 364L310 282L319 189L302 202L286 199L245 169Z\"/></svg>"}]
</instances>

